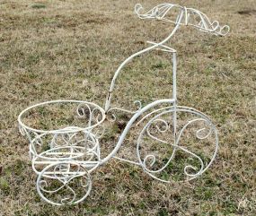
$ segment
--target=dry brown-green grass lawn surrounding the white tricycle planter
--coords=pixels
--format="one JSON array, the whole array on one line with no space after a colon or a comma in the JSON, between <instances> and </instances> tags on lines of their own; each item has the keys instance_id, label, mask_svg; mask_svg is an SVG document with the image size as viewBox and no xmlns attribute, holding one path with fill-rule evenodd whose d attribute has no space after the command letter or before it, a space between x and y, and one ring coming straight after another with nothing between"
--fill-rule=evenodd
<instances>
[{"instance_id":1,"label":"dry brown-green grass lawn surrounding the white tricycle planter","mask_svg":"<svg viewBox=\"0 0 256 216\"><path fill-rule=\"evenodd\" d=\"M120 62L172 26L137 19L137 1L0 1L0 215L256 215L256 5L174 2L231 27L225 38L183 27L171 45L179 57L179 104L199 108L217 125L216 162L190 183L165 185L140 168L110 160L93 173L93 191L84 203L56 207L35 190L18 114L50 99L103 105ZM158 3L144 1L146 8ZM127 108L136 99L146 104L168 97L168 57L150 53L128 65L114 104ZM115 127L104 139L117 139L118 132Z\"/></svg>"}]
</instances>

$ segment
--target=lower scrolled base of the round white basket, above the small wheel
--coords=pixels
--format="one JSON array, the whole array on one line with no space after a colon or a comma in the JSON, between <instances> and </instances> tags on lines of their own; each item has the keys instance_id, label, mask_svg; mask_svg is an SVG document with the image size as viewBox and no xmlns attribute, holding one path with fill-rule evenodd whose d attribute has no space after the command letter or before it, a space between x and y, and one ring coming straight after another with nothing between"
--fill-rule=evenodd
<instances>
[{"instance_id":1,"label":"lower scrolled base of the round white basket, above the small wheel","mask_svg":"<svg viewBox=\"0 0 256 216\"><path fill-rule=\"evenodd\" d=\"M48 149L42 151L37 139L45 143ZM33 155L32 168L40 174L42 169L57 161L84 161L88 162L86 168L97 168L101 160L101 151L98 139L89 132L76 132L74 134L44 134L31 142L30 151ZM84 165L85 166L85 165Z\"/></svg>"}]
</instances>

